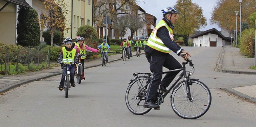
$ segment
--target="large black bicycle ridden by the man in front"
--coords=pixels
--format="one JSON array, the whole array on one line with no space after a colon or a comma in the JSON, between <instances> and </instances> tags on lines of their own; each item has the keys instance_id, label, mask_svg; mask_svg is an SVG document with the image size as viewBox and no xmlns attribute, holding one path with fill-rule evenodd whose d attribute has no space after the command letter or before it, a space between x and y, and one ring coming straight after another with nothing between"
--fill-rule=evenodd
<instances>
[{"instance_id":1,"label":"large black bicycle ridden by the man in front","mask_svg":"<svg viewBox=\"0 0 256 127\"><path fill-rule=\"evenodd\" d=\"M185 65L189 64L194 70L194 64L191 60L182 63L182 68L169 70L163 74L182 70L180 76L175 80L166 92L158 90L156 104L160 105L164 102L164 98L170 94L170 102L173 111L184 119L196 119L204 115L210 108L212 96L209 88L198 79L190 78L194 72L186 72ZM143 115L148 113L151 108L144 108L148 86L152 80L151 73L133 73L134 79L129 83L126 90L126 106L136 114ZM179 82L181 79L181 82ZM159 110L159 108L157 109Z\"/></svg>"}]
</instances>

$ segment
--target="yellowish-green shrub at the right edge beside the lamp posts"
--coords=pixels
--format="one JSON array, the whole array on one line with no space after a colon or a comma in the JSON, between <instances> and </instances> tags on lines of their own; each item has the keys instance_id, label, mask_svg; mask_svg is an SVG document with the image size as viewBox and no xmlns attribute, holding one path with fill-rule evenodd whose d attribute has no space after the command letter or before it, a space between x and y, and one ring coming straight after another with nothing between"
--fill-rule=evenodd
<instances>
[{"instance_id":1,"label":"yellowish-green shrub at the right edge beside the lamp posts","mask_svg":"<svg viewBox=\"0 0 256 127\"><path fill-rule=\"evenodd\" d=\"M239 40L241 53L248 57L254 57L255 30L253 28L245 29Z\"/></svg>"}]
</instances>

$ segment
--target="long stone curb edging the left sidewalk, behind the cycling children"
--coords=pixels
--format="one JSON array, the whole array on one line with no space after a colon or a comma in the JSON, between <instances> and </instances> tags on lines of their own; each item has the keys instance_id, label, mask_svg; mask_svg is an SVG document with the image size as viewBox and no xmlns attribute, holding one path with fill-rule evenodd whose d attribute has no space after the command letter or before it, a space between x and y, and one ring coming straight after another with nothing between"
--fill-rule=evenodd
<instances>
[{"instance_id":1,"label":"long stone curb edging the left sidewalk, behind the cycling children","mask_svg":"<svg viewBox=\"0 0 256 127\"><path fill-rule=\"evenodd\" d=\"M145 54L145 53L141 53L141 54ZM136 55L132 55L133 57L136 56ZM119 61L119 60L122 60L121 58L119 59L114 59L113 61L110 61L109 63L111 62L114 62L114 61ZM93 67L96 67L96 66L102 66L101 64L96 64L96 65L93 65L93 66L87 66L87 67L84 67L84 69L88 69L88 68L93 68ZM29 79L29 80L24 80L24 81L21 81L21 82L17 82L17 83L14 83L14 84L11 84L9 86L6 86L2 89L0 89L0 93L4 93L8 90L11 90L13 88L16 88L18 86L21 86L21 85L24 85L24 84L27 84L27 83L30 83L30 82L35 82L35 81L39 81L39 80L42 80L42 79L45 79L45 78L50 78L52 76L56 76L56 75L60 75L62 74L62 72L58 72L58 73L54 73L54 74L50 74L50 75L47 75L47 76L41 76L41 77L38 77L38 78L34 78L34 79Z\"/></svg>"}]
</instances>

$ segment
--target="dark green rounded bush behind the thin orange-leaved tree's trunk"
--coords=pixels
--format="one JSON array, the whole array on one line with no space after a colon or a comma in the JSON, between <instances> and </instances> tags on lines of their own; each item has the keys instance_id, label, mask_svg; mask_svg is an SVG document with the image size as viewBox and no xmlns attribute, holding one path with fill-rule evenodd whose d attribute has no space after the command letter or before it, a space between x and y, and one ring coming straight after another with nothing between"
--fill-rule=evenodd
<instances>
[{"instance_id":1,"label":"dark green rounded bush behind the thin orange-leaved tree's trunk","mask_svg":"<svg viewBox=\"0 0 256 127\"><path fill-rule=\"evenodd\" d=\"M52 39L49 30L44 31L42 37L44 37L44 42L46 42L47 45L51 45ZM56 30L54 32L53 43L57 45L62 44L62 33L60 31Z\"/></svg>"}]
</instances>

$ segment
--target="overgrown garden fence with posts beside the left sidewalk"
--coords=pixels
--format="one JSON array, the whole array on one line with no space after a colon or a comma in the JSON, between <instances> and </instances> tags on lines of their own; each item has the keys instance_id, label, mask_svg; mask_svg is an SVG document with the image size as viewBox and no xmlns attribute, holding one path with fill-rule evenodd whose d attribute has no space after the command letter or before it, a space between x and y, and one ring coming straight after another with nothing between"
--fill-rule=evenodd
<instances>
[{"instance_id":1,"label":"overgrown garden fence with posts beside the left sidewalk","mask_svg":"<svg viewBox=\"0 0 256 127\"><path fill-rule=\"evenodd\" d=\"M45 64L46 68L49 68L50 61L56 61L58 58L56 55L50 57L51 52L54 51L50 50L50 46L47 45L37 47L2 45L0 46L0 74L10 74L11 69L18 72L21 64L27 65L28 69L31 65L40 66L40 64ZM15 68L10 68L11 65Z\"/></svg>"}]
</instances>

